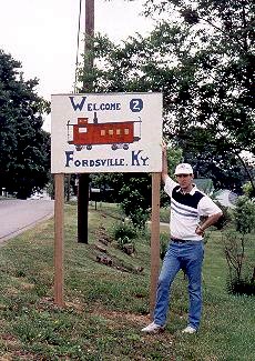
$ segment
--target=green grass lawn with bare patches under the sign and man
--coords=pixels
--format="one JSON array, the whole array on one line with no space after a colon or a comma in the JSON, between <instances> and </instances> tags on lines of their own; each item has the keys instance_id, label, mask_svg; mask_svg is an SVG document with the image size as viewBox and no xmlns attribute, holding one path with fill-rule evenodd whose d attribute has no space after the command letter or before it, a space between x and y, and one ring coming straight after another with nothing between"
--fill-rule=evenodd
<instances>
[{"instance_id":1,"label":"green grass lawn with bare patches under the sign and man","mask_svg":"<svg viewBox=\"0 0 255 361\"><path fill-rule=\"evenodd\" d=\"M119 210L90 209L89 244L76 242L75 204L67 204L64 215L65 308L53 303L53 220L0 248L0 360L255 360L254 298L227 294L220 232L206 243L200 332L180 331L187 318L186 281L180 274L166 331L143 335L140 330L150 322L150 237L135 240L134 257L109 242L113 265L108 267L96 262L95 244L118 222Z\"/></svg>"}]
</instances>

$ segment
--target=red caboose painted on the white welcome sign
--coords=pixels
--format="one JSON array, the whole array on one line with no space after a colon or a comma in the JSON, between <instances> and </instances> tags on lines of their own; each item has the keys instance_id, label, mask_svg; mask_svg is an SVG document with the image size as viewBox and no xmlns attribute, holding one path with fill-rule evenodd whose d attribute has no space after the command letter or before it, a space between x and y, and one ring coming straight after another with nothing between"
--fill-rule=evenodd
<instances>
[{"instance_id":1,"label":"red caboose painted on the white welcome sign","mask_svg":"<svg viewBox=\"0 0 255 361\"><path fill-rule=\"evenodd\" d=\"M141 120L137 122L141 123ZM68 137L70 137L69 127L73 127L73 139L68 142L74 144L76 150L83 147L91 150L95 144L112 144L113 150L129 149L130 143L141 139L134 136L134 123L135 121L98 123L96 114L93 123L89 123L88 118L78 118L76 124L68 122Z\"/></svg>"}]
</instances>

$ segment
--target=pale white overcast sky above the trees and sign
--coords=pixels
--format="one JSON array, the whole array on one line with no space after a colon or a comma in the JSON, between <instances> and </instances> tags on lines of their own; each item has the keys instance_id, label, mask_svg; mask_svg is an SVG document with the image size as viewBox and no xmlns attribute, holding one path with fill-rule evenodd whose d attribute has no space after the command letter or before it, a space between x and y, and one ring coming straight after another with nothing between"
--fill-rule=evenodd
<instances>
[{"instance_id":1,"label":"pale white overcast sky above the trees and sign","mask_svg":"<svg viewBox=\"0 0 255 361\"><path fill-rule=\"evenodd\" d=\"M72 92L80 0L0 1L0 48L21 61L24 79L38 78L38 93L47 100L53 93ZM143 0L94 3L95 32L114 41L135 32L146 34L152 28L152 22L141 16ZM44 128L50 129L48 118Z\"/></svg>"}]
</instances>

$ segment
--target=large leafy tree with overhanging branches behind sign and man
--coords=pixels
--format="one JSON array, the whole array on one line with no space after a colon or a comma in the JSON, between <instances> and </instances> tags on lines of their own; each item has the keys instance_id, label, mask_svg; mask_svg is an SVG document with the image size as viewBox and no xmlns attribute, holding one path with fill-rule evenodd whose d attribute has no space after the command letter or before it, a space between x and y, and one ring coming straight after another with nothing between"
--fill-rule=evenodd
<instances>
[{"instance_id":1,"label":"large leafy tree with overhanging branches behind sign and man","mask_svg":"<svg viewBox=\"0 0 255 361\"><path fill-rule=\"evenodd\" d=\"M163 91L164 133L184 158L210 144L218 173L235 163L255 192L242 157L255 157L254 1L146 0L145 14L159 19L147 38L95 39L94 90Z\"/></svg>"}]
</instances>

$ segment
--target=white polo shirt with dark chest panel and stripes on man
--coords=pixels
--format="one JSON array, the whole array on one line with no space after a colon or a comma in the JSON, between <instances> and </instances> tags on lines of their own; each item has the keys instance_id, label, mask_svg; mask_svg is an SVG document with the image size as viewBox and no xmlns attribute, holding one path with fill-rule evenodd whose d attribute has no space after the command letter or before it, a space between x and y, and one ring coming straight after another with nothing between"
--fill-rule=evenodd
<instances>
[{"instance_id":1,"label":"white polo shirt with dark chest panel and stripes on man","mask_svg":"<svg viewBox=\"0 0 255 361\"><path fill-rule=\"evenodd\" d=\"M200 217L218 213L221 209L196 185L190 193L183 193L178 183L167 177L164 190L171 198L171 235L183 240L202 240L202 235L195 233Z\"/></svg>"}]
</instances>

